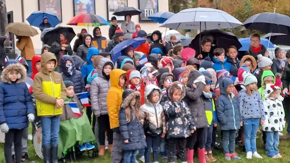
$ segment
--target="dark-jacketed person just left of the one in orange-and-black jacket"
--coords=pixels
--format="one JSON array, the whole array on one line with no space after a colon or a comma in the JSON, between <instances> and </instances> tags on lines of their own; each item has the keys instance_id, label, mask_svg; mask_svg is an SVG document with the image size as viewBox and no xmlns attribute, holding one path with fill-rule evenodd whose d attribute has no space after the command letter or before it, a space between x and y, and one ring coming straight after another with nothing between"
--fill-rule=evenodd
<instances>
[{"instance_id":1,"label":"dark-jacketed person just left of the one in orange-and-black jacket","mask_svg":"<svg viewBox=\"0 0 290 163\"><path fill-rule=\"evenodd\" d=\"M76 50L76 55L81 57L83 60L86 60L89 48L95 47L92 45L92 36L90 34L85 33L83 38L83 44L79 46L78 50Z\"/></svg>"}]
</instances>

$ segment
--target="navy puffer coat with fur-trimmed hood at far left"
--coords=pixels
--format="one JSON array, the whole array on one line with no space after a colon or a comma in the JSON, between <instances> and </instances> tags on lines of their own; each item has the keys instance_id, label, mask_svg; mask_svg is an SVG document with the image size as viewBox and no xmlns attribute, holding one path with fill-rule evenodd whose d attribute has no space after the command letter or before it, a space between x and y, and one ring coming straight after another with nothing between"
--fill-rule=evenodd
<instances>
[{"instance_id":1,"label":"navy puffer coat with fur-trimmed hood at far left","mask_svg":"<svg viewBox=\"0 0 290 163\"><path fill-rule=\"evenodd\" d=\"M9 75L17 71L21 77L11 82ZM24 82L26 69L21 64L10 64L2 72L0 83L0 124L6 123L9 130L28 127L27 115L34 114L31 95Z\"/></svg>"}]
</instances>

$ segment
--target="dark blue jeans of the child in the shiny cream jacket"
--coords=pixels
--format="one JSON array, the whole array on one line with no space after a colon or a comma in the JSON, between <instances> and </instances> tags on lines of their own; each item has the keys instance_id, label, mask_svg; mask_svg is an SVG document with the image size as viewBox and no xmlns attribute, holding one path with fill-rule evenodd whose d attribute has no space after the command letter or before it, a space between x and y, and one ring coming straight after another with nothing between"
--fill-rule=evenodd
<instances>
[{"instance_id":1,"label":"dark blue jeans of the child in the shiny cream jacket","mask_svg":"<svg viewBox=\"0 0 290 163\"><path fill-rule=\"evenodd\" d=\"M146 135L146 142L147 147L145 148L145 162L151 162L150 161L150 154L151 150L153 149L153 162L158 162L158 155L159 155L159 147L160 147L160 135L157 136L151 136Z\"/></svg>"}]
</instances>

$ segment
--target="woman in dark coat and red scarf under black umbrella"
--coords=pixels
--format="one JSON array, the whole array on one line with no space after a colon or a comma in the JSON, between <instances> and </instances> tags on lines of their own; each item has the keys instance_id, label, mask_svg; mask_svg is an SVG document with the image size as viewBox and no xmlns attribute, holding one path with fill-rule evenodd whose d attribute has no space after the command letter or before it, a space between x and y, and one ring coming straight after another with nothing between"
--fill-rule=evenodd
<instances>
[{"instance_id":1,"label":"woman in dark coat and red scarf under black umbrella","mask_svg":"<svg viewBox=\"0 0 290 163\"><path fill-rule=\"evenodd\" d=\"M66 34L61 33L59 39L55 40L55 42L52 43L50 47L50 52L54 53L56 59L57 59L57 72L62 72L61 67L61 60L63 55L72 55L72 50L69 45L68 40L66 39Z\"/></svg>"}]
</instances>

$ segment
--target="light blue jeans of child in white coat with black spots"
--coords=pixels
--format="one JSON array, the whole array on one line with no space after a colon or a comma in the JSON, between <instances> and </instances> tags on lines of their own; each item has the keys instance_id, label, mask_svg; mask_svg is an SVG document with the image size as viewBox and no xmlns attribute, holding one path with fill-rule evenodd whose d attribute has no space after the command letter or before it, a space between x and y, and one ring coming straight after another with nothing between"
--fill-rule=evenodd
<instances>
[{"instance_id":1,"label":"light blue jeans of child in white coat with black spots","mask_svg":"<svg viewBox=\"0 0 290 163\"><path fill-rule=\"evenodd\" d=\"M266 133L266 155L269 157L276 156L279 153L279 132L265 132Z\"/></svg>"}]
</instances>

